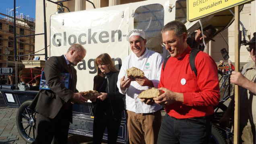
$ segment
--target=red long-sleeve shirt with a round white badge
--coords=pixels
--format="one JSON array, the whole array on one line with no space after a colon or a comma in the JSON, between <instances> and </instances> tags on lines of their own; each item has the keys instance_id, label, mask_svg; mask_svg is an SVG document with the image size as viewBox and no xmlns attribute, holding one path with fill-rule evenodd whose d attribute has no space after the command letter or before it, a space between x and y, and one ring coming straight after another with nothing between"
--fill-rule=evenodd
<instances>
[{"instance_id":1,"label":"red long-sleeve shirt with a round white badge","mask_svg":"<svg viewBox=\"0 0 256 144\"><path fill-rule=\"evenodd\" d=\"M159 88L165 87L184 95L184 103L165 106L166 113L177 119L211 115L213 106L219 103L219 80L214 60L200 51L195 58L196 76L189 64L190 51L188 46L180 59L169 58L164 71L161 70Z\"/></svg>"}]
</instances>

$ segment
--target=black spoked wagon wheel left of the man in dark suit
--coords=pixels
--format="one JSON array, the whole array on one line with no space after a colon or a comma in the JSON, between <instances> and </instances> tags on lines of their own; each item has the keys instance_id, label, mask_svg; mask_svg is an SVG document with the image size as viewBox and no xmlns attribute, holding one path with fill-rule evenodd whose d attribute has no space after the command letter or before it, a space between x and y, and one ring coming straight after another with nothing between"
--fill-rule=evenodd
<instances>
[{"instance_id":1,"label":"black spoked wagon wheel left of the man in dark suit","mask_svg":"<svg viewBox=\"0 0 256 144\"><path fill-rule=\"evenodd\" d=\"M35 142L35 111L28 106L32 100L25 101L20 107L16 115L17 129L21 137L28 143Z\"/></svg>"}]
</instances>

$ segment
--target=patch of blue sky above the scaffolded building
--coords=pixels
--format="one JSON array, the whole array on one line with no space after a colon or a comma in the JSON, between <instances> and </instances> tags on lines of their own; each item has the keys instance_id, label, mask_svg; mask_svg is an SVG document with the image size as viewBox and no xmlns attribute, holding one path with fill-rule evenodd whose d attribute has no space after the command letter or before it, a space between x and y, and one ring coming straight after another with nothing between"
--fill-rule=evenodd
<instances>
[{"instance_id":1,"label":"patch of blue sky above the scaffolded building","mask_svg":"<svg viewBox=\"0 0 256 144\"><path fill-rule=\"evenodd\" d=\"M35 19L35 0L16 0L16 7L17 6L20 7L16 9L16 15L23 13L24 16L29 16L30 18ZM6 14L6 8L7 11L8 8L9 10L13 8L13 0L0 0L0 12ZM9 12L9 15L10 14L11 13ZM0 17L4 16L0 15Z\"/></svg>"}]
</instances>

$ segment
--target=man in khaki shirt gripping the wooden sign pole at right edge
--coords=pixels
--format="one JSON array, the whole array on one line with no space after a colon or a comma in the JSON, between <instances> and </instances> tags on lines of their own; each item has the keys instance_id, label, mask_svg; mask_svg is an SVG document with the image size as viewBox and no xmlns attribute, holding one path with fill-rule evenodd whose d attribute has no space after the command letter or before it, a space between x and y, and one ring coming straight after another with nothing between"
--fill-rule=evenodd
<instances>
[{"instance_id":1,"label":"man in khaki shirt gripping the wooden sign pole at right edge","mask_svg":"<svg viewBox=\"0 0 256 144\"><path fill-rule=\"evenodd\" d=\"M233 71L230 82L239 86L239 144L256 144L256 68L255 68L255 32L246 45L252 61L244 65L242 72ZM232 99L225 114L220 120L220 125L228 126L229 117L234 113L235 101Z\"/></svg>"}]
</instances>

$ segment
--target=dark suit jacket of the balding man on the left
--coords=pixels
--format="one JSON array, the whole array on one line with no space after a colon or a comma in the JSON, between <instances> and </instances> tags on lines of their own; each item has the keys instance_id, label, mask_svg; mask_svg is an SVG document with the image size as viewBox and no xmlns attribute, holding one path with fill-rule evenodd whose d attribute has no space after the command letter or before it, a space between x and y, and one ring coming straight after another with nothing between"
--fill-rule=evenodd
<instances>
[{"instance_id":1,"label":"dark suit jacket of the balding man on the left","mask_svg":"<svg viewBox=\"0 0 256 144\"><path fill-rule=\"evenodd\" d=\"M52 56L44 67L46 82L50 90L40 90L29 107L37 113L53 119L70 97L78 92L76 90L76 70L73 66L71 66L71 70L72 80L70 76L69 82L72 82L72 89L70 86L66 88L60 82L60 73L69 73L64 56ZM74 92L71 90L74 90ZM72 104L70 104L66 113L68 114L67 118L72 122Z\"/></svg>"}]
</instances>

